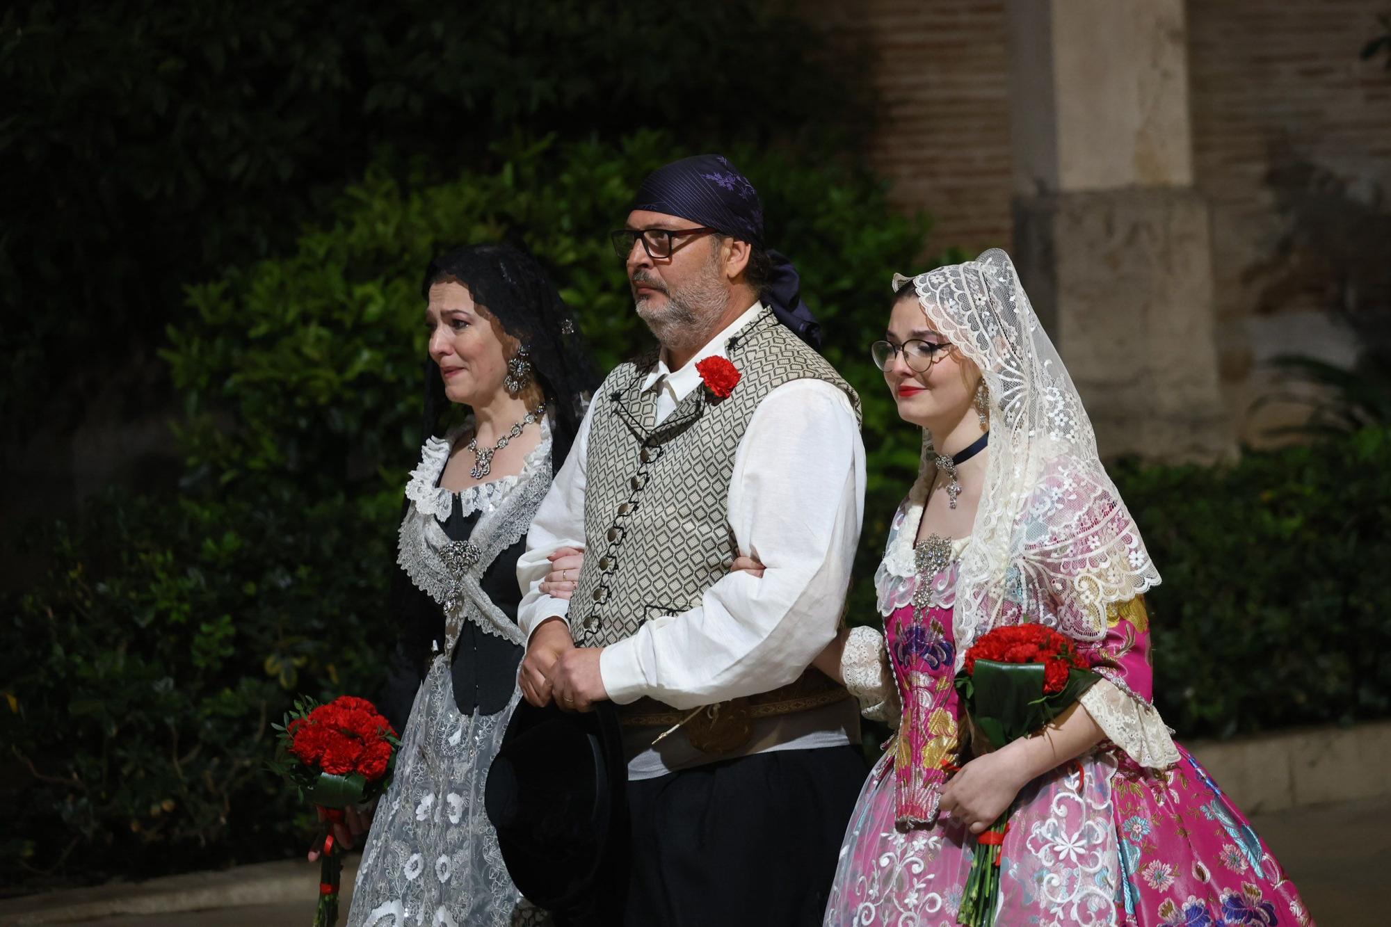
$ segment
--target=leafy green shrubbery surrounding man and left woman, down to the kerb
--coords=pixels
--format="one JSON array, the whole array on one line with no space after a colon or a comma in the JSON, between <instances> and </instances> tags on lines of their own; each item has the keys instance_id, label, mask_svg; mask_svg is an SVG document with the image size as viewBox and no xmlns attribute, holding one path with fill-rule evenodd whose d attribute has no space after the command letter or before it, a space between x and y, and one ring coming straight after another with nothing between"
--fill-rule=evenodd
<instances>
[{"instance_id":1,"label":"leafy green shrubbery surrounding man and left woman, down to the kerb","mask_svg":"<svg viewBox=\"0 0 1391 927\"><path fill-rule=\"evenodd\" d=\"M522 241L606 369L648 335L605 232L634 180L684 150L665 131L510 139L494 168L434 184L373 164L282 256L188 287L160 351L185 399L182 491L95 507L6 607L7 878L298 846L303 811L259 761L296 693L374 695L383 681L394 522L421 440L423 267L458 242ZM864 393L872 508L889 512L918 438L861 347L883 324L886 269L914 264L925 225L890 213L851 161L727 150L835 333L828 356Z\"/></svg>"}]
</instances>

